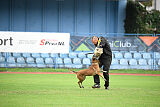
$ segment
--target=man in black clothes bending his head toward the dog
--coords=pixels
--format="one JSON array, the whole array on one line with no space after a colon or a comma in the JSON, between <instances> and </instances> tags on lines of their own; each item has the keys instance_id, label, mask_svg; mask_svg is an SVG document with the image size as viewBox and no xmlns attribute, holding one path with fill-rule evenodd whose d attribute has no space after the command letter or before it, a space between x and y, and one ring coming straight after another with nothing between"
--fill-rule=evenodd
<instances>
[{"instance_id":1,"label":"man in black clothes bending his head toward the dog","mask_svg":"<svg viewBox=\"0 0 160 107\"><path fill-rule=\"evenodd\" d=\"M95 45L94 55L99 58L99 67L103 66L103 76L106 79L105 81L105 89L109 89L109 69L112 62L112 51L108 41L104 37L92 37L92 43ZM101 50L101 52L100 52ZM92 88L100 88L100 79L98 75L94 77L94 85Z\"/></svg>"}]
</instances>

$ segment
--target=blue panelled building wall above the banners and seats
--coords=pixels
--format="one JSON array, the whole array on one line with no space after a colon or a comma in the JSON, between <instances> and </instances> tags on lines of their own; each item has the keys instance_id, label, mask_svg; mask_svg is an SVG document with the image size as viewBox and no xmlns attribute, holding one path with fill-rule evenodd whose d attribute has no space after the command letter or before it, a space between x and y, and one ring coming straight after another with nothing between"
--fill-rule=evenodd
<instances>
[{"instance_id":1,"label":"blue panelled building wall above the banners and seats","mask_svg":"<svg viewBox=\"0 0 160 107\"><path fill-rule=\"evenodd\" d=\"M0 31L123 33L127 0L0 0Z\"/></svg>"}]
</instances>

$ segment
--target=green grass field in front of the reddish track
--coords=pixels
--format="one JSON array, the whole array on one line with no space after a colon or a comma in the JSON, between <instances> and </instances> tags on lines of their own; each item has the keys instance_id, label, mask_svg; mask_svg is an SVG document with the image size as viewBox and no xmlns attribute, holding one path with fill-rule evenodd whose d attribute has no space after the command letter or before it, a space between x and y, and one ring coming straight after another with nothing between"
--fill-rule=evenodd
<instances>
[{"instance_id":1,"label":"green grass field in front of the reddish track","mask_svg":"<svg viewBox=\"0 0 160 107\"><path fill-rule=\"evenodd\" d=\"M160 76L110 75L110 90L74 74L0 74L0 107L160 107Z\"/></svg>"}]
</instances>

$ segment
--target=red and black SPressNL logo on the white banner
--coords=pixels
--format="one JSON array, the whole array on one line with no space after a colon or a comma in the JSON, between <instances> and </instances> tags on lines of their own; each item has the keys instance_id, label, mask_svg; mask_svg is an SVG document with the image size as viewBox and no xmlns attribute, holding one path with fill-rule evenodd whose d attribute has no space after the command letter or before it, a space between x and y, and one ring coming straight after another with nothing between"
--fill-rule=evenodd
<instances>
[{"instance_id":1,"label":"red and black SPressNL logo on the white banner","mask_svg":"<svg viewBox=\"0 0 160 107\"><path fill-rule=\"evenodd\" d=\"M63 41L58 41L54 39L42 39L40 45L64 45Z\"/></svg>"}]
</instances>

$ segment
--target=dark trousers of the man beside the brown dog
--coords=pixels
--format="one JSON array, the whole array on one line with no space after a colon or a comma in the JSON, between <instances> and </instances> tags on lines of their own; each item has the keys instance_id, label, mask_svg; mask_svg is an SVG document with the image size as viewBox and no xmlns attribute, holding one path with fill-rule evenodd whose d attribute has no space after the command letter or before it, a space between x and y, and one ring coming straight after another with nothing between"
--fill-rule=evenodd
<instances>
[{"instance_id":1,"label":"dark trousers of the man beside the brown dog","mask_svg":"<svg viewBox=\"0 0 160 107\"><path fill-rule=\"evenodd\" d=\"M103 76L106 79L104 86L108 87L109 86L109 69L110 69L110 65L112 62L112 57L111 56L107 56L107 58L103 58L100 60L100 64L99 67L101 68L103 65ZM100 84L100 79L99 79L99 75L95 75L94 77L94 83L96 84Z\"/></svg>"}]
</instances>

